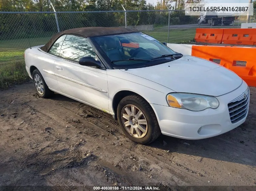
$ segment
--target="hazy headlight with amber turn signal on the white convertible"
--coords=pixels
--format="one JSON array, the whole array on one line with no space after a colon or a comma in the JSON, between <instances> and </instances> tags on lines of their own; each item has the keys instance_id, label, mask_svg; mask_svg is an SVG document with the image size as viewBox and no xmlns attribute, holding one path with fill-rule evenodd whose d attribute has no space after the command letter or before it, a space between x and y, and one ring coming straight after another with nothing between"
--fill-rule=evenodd
<instances>
[{"instance_id":1,"label":"hazy headlight with amber turn signal on the white convertible","mask_svg":"<svg viewBox=\"0 0 256 191\"><path fill-rule=\"evenodd\" d=\"M199 94L171 93L167 95L167 102L170 107L191 111L202 111L207 108L216 109L219 107L219 101L216 97Z\"/></svg>"}]
</instances>

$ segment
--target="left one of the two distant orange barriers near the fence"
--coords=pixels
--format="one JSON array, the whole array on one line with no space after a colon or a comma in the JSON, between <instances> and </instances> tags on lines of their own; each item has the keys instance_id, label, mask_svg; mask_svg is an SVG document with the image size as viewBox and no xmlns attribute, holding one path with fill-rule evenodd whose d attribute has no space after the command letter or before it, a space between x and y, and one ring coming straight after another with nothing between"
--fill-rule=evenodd
<instances>
[{"instance_id":1,"label":"left one of the two distant orange barriers near the fence","mask_svg":"<svg viewBox=\"0 0 256 191\"><path fill-rule=\"evenodd\" d=\"M221 43L224 29L197 28L195 34L196 42Z\"/></svg>"}]
</instances>

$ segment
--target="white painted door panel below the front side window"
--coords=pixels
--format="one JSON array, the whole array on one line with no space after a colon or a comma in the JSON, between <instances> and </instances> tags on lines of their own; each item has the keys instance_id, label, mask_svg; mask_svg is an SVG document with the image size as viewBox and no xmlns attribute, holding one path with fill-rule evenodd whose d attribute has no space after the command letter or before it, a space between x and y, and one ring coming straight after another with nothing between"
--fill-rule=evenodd
<instances>
[{"instance_id":1,"label":"white painted door panel below the front side window","mask_svg":"<svg viewBox=\"0 0 256 191\"><path fill-rule=\"evenodd\" d=\"M56 58L54 72L59 75L57 76L57 80L62 93L108 111L108 81L106 70L82 66L74 62ZM70 81L70 79L63 78L63 76L76 81ZM76 83L77 81L88 85L78 84Z\"/></svg>"}]
</instances>

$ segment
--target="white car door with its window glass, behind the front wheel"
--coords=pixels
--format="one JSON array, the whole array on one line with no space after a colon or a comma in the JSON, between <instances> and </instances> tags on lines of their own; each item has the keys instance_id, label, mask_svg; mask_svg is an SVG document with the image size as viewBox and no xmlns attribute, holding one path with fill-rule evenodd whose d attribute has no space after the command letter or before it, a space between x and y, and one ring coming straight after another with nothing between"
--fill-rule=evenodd
<instances>
[{"instance_id":1,"label":"white car door with its window glass, behind the front wheel","mask_svg":"<svg viewBox=\"0 0 256 191\"><path fill-rule=\"evenodd\" d=\"M58 86L62 93L104 111L108 110L108 82L104 69L82 66L78 59L96 53L88 39L67 35L59 58L54 63Z\"/></svg>"}]
</instances>

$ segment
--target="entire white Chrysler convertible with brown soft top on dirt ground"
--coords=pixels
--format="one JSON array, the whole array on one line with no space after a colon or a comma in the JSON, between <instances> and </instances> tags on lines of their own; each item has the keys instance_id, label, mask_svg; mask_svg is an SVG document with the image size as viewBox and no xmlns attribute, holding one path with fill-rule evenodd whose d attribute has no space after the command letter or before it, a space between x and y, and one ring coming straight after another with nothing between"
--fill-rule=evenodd
<instances>
[{"instance_id":1,"label":"entire white Chrysler convertible with brown soft top on dirt ground","mask_svg":"<svg viewBox=\"0 0 256 191\"><path fill-rule=\"evenodd\" d=\"M141 144L161 133L213 137L248 114L249 88L234 72L176 53L136 30L65 30L26 49L25 62L39 96L56 92L105 111Z\"/></svg>"}]
</instances>

